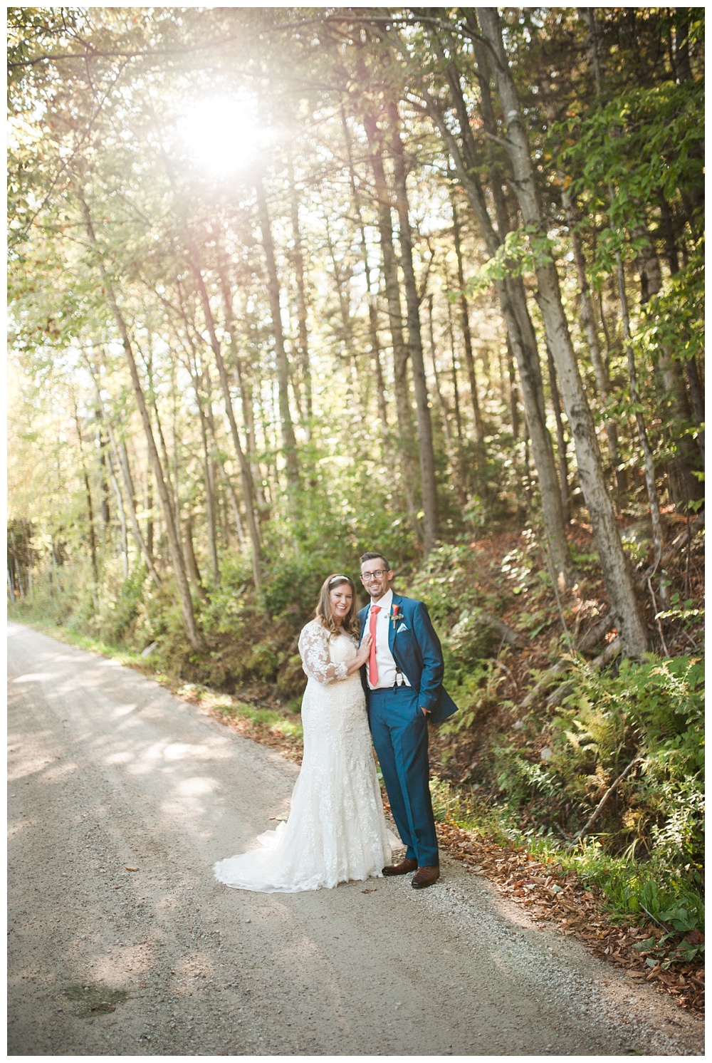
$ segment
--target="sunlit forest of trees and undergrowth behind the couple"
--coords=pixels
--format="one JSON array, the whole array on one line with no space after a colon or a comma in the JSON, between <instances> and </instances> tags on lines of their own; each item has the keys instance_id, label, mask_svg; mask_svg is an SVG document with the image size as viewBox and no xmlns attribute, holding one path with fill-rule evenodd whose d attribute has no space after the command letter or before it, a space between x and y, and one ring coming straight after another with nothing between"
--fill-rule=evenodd
<instances>
[{"instance_id":1,"label":"sunlit forest of trees and undergrowth behind the couple","mask_svg":"<svg viewBox=\"0 0 712 1063\"><path fill-rule=\"evenodd\" d=\"M383 552L443 823L699 963L703 9L7 27L11 618L298 736Z\"/></svg>"}]
</instances>

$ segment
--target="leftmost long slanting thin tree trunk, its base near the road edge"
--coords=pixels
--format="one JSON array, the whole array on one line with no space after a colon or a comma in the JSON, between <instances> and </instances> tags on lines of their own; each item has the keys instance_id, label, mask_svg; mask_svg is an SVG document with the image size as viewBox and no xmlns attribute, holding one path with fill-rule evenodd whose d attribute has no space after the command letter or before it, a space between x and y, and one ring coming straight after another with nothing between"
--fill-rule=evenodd
<instances>
[{"instance_id":1,"label":"leftmost long slanting thin tree trunk, its base near the road edge","mask_svg":"<svg viewBox=\"0 0 712 1063\"><path fill-rule=\"evenodd\" d=\"M171 505L171 499L168 494L166 480L164 479L164 471L162 469L160 458L158 457L158 451L156 449L153 428L151 425L151 418L149 416L148 406L146 404L146 398L143 395L143 389L141 387L141 382L138 376L138 367L136 365L136 358L134 356L133 345L129 337L129 330L126 327L123 315L119 308L112 279L109 277L106 271L106 268L104 266L104 260L97 246L97 238L95 235L94 224L91 221L91 215L89 213L89 208L83 196L80 195L79 201L82 208L82 215L84 218L84 224L87 231L87 236L89 238L89 244L96 257L97 265L101 273L102 283L106 290L107 301L111 306L112 313L114 315L114 320L116 321L119 335L121 336L121 341L123 343L123 353L126 359L126 364L129 366L129 372L131 374L131 382L134 389L134 395L136 398L136 405L138 407L138 412L140 415L141 423L143 425L143 434L146 436L146 442L149 451L149 458L151 465L153 466L153 472L156 478L156 485L158 488L158 495L160 497L164 520L166 522L168 549L170 552L171 563L173 566L173 573L177 586L186 638L188 639L191 649L193 649L196 653L203 653L207 647L205 644L205 639L203 638L203 635L196 623L196 614L193 612L192 600L190 597L190 588L188 586L188 579L183 563L181 543L179 541L179 536L175 528L175 521L173 519L173 507Z\"/></svg>"}]
</instances>

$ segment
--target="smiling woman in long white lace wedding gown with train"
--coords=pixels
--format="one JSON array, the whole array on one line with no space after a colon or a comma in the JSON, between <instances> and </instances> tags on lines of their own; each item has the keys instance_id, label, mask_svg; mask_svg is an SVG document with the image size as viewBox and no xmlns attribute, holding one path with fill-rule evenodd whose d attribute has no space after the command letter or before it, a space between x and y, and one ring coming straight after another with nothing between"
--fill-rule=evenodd
<instances>
[{"instance_id":1,"label":"smiling woman in long white lace wedding gown with train","mask_svg":"<svg viewBox=\"0 0 712 1063\"><path fill-rule=\"evenodd\" d=\"M219 882L296 893L380 876L390 862L391 843L399 843L386 827L359 677L370 647L368 632L358 646L353 580L329 576L299 640L308 682L289 819L257 838L260 848L218 861Z\"/></svg>"}]
</instances>

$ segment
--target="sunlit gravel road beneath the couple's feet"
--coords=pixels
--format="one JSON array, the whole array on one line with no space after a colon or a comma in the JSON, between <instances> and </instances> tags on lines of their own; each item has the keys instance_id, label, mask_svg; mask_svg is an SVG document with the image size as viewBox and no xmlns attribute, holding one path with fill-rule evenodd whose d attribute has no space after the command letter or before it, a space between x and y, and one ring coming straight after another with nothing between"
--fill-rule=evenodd
<instances>
[{"instance_id":1,"label":"sunlit gravel road beneath the couple's feet","mask_svg":"<svg viewBox=\"0 0 712 1063\"><path fill-rule=\"evenodd\" d=\"M701 1053L456 862L424 891L218 885L298 769L132 670L10 624L9 691L10 1054Z\"/></svg>"}]
</instances>

